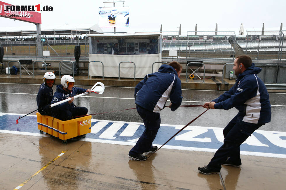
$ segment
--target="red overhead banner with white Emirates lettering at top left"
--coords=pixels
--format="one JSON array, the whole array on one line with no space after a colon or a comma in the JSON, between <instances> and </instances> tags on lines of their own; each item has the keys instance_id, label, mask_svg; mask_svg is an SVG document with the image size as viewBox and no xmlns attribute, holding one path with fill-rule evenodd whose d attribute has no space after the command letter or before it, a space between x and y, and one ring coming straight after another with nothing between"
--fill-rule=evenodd
<instances>
[{"instance_id":1,"label":"red overhead banner with white Emirates lettering at top left","mask_svg":"<svg viewBox=\"0 0 286 190\"><path fill-rule=\"evenodd\" d=\"M41 13L34 11L34 7L34 5L14 6L9 3L0 1L0 16L35 24L41 24Z\"/></svg>"}]
</instances>

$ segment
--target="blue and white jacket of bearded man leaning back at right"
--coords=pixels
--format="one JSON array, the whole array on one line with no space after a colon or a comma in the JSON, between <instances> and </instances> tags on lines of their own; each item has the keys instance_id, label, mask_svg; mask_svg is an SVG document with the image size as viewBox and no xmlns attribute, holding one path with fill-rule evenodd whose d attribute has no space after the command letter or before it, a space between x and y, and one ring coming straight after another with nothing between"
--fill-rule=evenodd
<instances>
[{"instance_id":1,"label":"blue and white jacket of bearded man leaning back at right","mask_svg":"<svg viewBox=\"0 0 286 190\"><path fill-rule=\"evenodd\" d=\"M265 124L271 120L269 95L263 81L257 76L261 68L254 63L238 75L231 89L212 100L215 109L238 109L238 120Z\"/></svg>"}]
</instances>

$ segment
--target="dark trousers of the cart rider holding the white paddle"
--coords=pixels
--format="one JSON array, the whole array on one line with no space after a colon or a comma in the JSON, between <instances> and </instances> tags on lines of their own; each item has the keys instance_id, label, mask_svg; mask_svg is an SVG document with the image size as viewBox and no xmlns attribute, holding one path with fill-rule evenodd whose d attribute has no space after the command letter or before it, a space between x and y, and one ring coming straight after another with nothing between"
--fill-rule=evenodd
<instances>
[{"instance_id":1,"label":"dark trousers of the cart rider holding the white paddle","mask_svg":"<svg viewBox=\"0 0 286 190\"><path fill-rule=\"evenodd\" d=\"M55 114L55 118L66 121L70 120L71 117L86 115L87 112L88 109L85 107L74 107L71 110L61 110L60 113Z\"/></svg>"}]
</instances>

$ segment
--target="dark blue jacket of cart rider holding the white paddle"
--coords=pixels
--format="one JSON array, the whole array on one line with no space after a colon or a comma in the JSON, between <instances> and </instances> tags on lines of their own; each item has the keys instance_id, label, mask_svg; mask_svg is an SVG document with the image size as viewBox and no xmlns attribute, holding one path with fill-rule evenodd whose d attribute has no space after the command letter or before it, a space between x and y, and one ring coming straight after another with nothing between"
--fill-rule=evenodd
<instances>
[{"instance_id":1,"label":"dark blue jacket of cart rider holding the white paddle","mask_svg":"<svg viewBox=\"0 0 286 190\"><path fill-rule=\"evenodd\" d=\"M86 92L86 90L87 89L73 87L71 92L67 92L62 89L62 85L57 85L57 89L54 94L52 104L73 97L76 94L84 93ZM71 110L73 107L74 107L74 102L72 102L71 104L69 104L68 102L64 102L62 104L54 106L53 111L58 112L60 110Z\"/></svg>"}]
</instances>

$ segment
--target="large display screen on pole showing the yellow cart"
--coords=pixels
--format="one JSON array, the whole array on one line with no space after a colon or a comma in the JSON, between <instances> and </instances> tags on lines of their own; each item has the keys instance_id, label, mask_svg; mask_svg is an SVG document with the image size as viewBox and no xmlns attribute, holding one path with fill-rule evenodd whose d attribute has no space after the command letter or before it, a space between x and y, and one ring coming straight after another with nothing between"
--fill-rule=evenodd
<instances>
[{"instance_id":1,"label":"large display screen on pole showing the yellow cart","mask_svg":"<svg viewBox=\"0 0 286 190\"><path fill-rule=\"evenodd\" d=\"M129 27L129 7L99 7L100 27Z\"/></svg>"}]
</instances>

